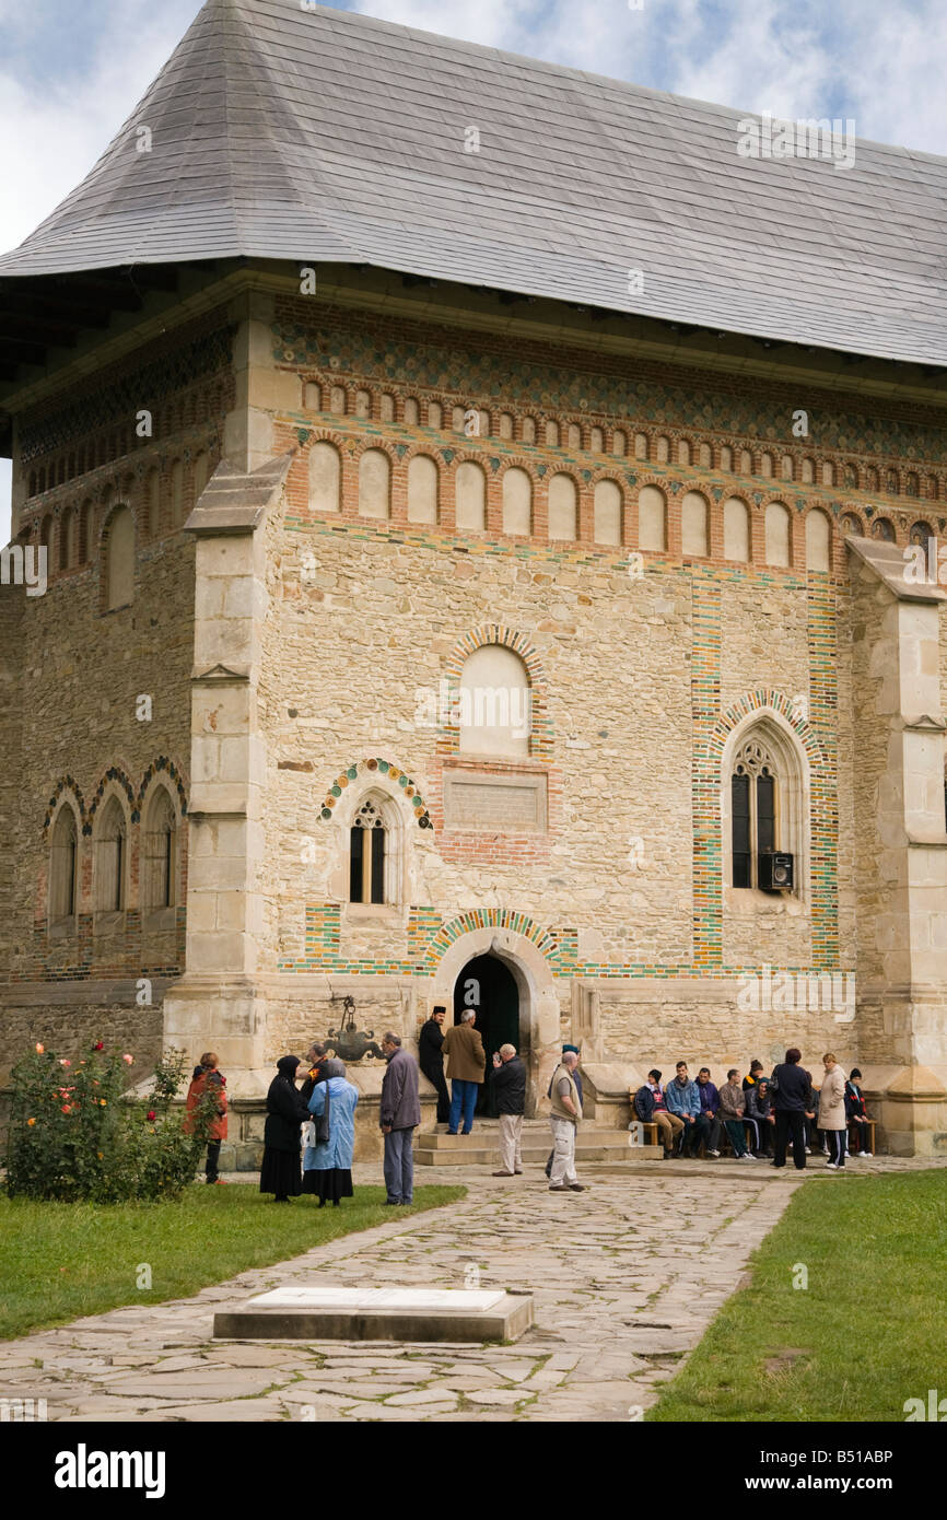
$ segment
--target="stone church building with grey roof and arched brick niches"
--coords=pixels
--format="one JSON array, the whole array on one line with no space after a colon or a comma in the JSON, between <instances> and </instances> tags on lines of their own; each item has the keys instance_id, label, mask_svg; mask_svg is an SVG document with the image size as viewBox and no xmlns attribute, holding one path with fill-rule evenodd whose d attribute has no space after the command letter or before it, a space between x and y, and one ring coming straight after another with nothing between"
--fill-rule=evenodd
<instances>
[{"instance_id":1,"label":"stone church building with grey roof and arched brick niches","mask_svg":"<svg viewBox=\"0 0 947 1520\"><path fill-rule=\"evenodd\" d=\"M328 1038L369 1155L444 1003L947 1149L947 161L771 128L207 0L0 258L0 1087L213 1049L249 1166Z\"/></svg>"}]
</instances>

